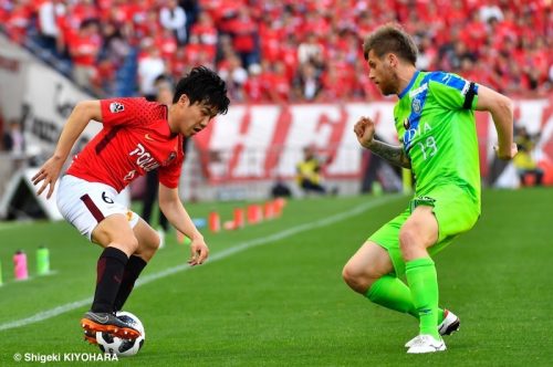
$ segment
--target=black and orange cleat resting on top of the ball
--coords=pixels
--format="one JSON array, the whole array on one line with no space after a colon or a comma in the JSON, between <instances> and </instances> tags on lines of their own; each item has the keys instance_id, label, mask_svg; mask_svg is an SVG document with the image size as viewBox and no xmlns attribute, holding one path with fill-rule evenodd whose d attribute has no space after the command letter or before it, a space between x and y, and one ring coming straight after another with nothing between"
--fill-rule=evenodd
<instances>
[{"instance_id":1,"label":"black and orange cleat resting on top of the ball","mask_svg":"<svg viewBox=\"0 0 553 367\"><path fill-rule=\"evenodd\" d=\"M109 312L88 311L81 319L81 327L84 328L86 335L96 335L97 332L102 332L109 333L122 339L136 339L140 336L140 332ZM90 340L86 335L85 338Z\"/></svg>"}]
</instances>

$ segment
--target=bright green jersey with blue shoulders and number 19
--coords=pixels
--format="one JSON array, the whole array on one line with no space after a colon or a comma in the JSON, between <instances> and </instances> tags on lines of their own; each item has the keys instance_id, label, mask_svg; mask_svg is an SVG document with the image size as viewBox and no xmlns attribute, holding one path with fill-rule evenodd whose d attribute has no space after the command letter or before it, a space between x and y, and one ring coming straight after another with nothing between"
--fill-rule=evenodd
<instances>
[{"instance_id":1,"label":"bright green jersey with blue shoulders and number 19","mask_svg":"<svg viewBox=\"0 0 553 367\"><path fill-rule=\"evenodd\" d=\"M394 119L411 161L416 196L453 184L480 206L477 101L478 85L444 72L417 71L399 94Z\"/></svg>"}]
</instances>

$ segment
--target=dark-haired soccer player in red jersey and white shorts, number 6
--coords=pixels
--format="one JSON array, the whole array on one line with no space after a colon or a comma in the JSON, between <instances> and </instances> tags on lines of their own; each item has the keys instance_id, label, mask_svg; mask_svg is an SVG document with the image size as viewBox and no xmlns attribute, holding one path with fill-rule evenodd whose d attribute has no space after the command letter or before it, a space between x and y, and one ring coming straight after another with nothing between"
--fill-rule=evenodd
<instances>
[{"instance_id":1,"label":"dark-haired soccer player in red jersey and white shorts, number 6","mask_svg":"<svg viewBox=\"0 0 553 367\"><path fill-rule=\"evenodd\" d=\"M201 264L208 247L184 208L178 181L182 139L201 129L229 106L226 83L215 72L195 67L176 86L173 104L144 98L79 103L70 115L53 156L33 177L50 198L71 148L91 119L103 129L74 157L58 188L58 208L65 220L104 250L97 261L91 311L81 319L85 338L96 332L133 339L140 335L117 318L134 283L159 247L157 232L115 197L138 176L158 169L159 207L169 222L191 239L190 265Z\"/></svg>"}]
</instances>

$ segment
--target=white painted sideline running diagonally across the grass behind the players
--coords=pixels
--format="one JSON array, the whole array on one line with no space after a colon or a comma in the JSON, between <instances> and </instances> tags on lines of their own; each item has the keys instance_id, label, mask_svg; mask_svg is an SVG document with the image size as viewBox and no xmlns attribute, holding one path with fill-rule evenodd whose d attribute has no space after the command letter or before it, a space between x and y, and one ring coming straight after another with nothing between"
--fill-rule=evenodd
<instances>
[{"instance_id":1,"label":"white painted sideline running diagonally across the grass behind the players","mask_svg":"<svg viewBox=\"0 0 553 367\"><path fill-rule=\"evenodd\" d=\"M234 253L242 252L242 251L251 249L251 248L255 248L255 247L259 247L259 245L262 245L262 244L267 244L267 243L271 243L271 242L274 242L274 241L279 241L279 240L285 239L288 237L298 234L300 232L304 232L304 231L309 231L309 230L312 230L312 229L315 229L315 228L320 228L320 227L324 227L324 226L328 226L328 224L332 224L332 223L340 222L340 221L342 221L344 219L347 219L347 218L351 218L351 217L355 217L355 216L361 214L362 212L364 212L364 211L366 211L368 209L373 209L375 207L378 207L378 206L380 206L380 205L383 205L385 202L389 202L393 199L397 199L397 198L400 198L400 196L382 197L382 198L374 199L372 201L365 202L363 205L359 205L359 206L353 208L352 210L344 211L344 212L334 214L334 216L325 218L325 219L320 219L320 220L314 221L314 222L309 222L309 223L300 224L300 226L296 226L296 227L289 228L289 229L286 229L284 231L280 231L280 232L274 233L274 234L270 234L270 235L267 235L267 237L263 237L263 238L258 238L258 239L254 239L254 240L251 240L251 241L242 242L239 245L229 248L227 250L223 250L221 252L215 253L213 255L209 256L209 261L206 262L206 264L210 264L210 263L212 263L215 261L222 260L225 258L233 255ZM204 266L206 264L204 264ZM138 286L142 286L142 285L152 283L152 282L157 281L159 279L163 279L163 277L166 277L166 276L179 273L179 272L184 272L184 271L187 271L187 270L190 270L190 269L191 268L188 264L181 264L181 265L177 265L177 266L173 266L173 268L163 270L163 271L154 273L154 274L145 275L145 276L140 277L136 282L135 287L138 287ZM84 300L81 300L81 301L75 301L75 302L72 302L72 303L66 303L64 305L61 305L61 306L58 306L58 307L54 307L54 308L50 308L48 311L39 312L39 313L36 313L36 314L34 314L34 315L32 315L30 317L20 318L20 319L15 319L13 322L0 324L0 332L1 331L8 331L10 328L23 327L23 326L27 326L27 325L31 325L31 324L39 323L39 322L44 321L44 319L49 319L49 318L59 316L59 315L67 313L70 311L73 311L73 310L83 307L85 305L88 305L88 304L92 303L92 301L93 301L92 297L88 297L88 298L84 298Z\"/></svg>"}]
</instances>

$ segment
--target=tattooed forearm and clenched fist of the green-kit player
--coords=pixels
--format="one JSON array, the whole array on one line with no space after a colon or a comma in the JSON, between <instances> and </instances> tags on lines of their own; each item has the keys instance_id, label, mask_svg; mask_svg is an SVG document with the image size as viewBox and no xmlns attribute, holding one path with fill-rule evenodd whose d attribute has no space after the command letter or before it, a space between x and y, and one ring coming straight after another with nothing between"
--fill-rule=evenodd
<instances>
[{"instance_id":1,"label":"tattooed forearm and clenched fist of the green-kit player","mask_svg":"<svg viewBox=\"0 0 553 367\"><path fill-rule=\"evenodd\" d=\"M361 117L353 130L362 147L369 149L394 166L411 168L411 162L400 146L386 144L374 138L375 123L371 118L365 116Z\"/></svg>"}]
</instances>

